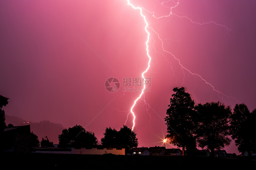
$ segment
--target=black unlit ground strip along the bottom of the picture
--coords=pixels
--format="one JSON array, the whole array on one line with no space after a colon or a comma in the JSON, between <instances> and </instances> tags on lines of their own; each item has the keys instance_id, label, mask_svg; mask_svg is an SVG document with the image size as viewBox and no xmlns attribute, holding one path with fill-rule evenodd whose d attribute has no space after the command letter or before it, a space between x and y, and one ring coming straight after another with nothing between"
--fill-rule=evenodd
<instances>
[{"instance_id":1,"label":"black unlit ground strip along the bottom of the picture","mask_svg":"<svg viewBox=\"0 0 256 170\"><path fill-rule=\"evenodd\" d=\"M71 155L46 153L1 153L5 169L237 169L255 167L256 159L189 156Z\"/></svg>"}]
</instances>

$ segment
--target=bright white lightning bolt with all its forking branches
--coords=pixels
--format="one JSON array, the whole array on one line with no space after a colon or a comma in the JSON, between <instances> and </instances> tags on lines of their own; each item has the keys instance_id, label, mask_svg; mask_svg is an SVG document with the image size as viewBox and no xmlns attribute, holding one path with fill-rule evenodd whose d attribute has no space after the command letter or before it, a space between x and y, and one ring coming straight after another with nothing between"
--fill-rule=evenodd
<instances>
[{"instance_id":1,"label":"bright white lightning bolt with all its forking branches","mask_svg":"<svg viewBox=\"0 0 256 170\"><path fill-rule=\"evenodd\" d=\"M170 1L173 2L175 5L172 6L172 7L167 7L167 6L164 5L164 3L168 3L168 2L170 2ZM146 24L146 26L145 26L145 31L146 31L146 34L147 34L146 52L147 52L147 56L148 56L148 58L149 58L149 62L148 62L148 65L147 65L147 67L146 67L146 70L141 74L141 77L143 78L143 90L146 88L145 83L144 83L144 79L145 79L144 74L148 71L148 69L149 69L149 67L150 67L150 63L152 62L152 58L151 58L150 55L149 55L149 45L148 45L148 43L149 43L149 37L150 37L150 33L149 33L148 29L151 29L151 30L158 36L158 39L159 39L159 40L161 41L161 43L162 43L162 51L161 51L160 53L166 52L166 53L170 54L170 55L179 63L179 65L180 65L180 67L181 67L181 69L182 69L183 75L184 75L184 77L183 77L183 83L184 83L184 81L185 81L185 80L184 80L184 78L185 78L185 72L184 72L184 71L187 71L187 72L189 72L190 74L199 77L199 79L201 79L201 80L202 80L203 82L205 82L206 84L210 85L211 88L213 89L213 92L214 92L214 91L217 92L217 93L218 93L218 96L219 96L222 100L224 100L224 99L223 99L223 96L226 96L226 97L228 97L228 98L233 98L233 99L235 99L237 102L241 103L241 102L238 101L236 98L231 97L231 96L227 96L227 95L225 95L224 93L221 93L220 91L216 90L216 89L213 87L213 85L211 85L209 82L207 82L205 79L203 79L199 74L192 73L189 69L187 69L185 66L183 66L183 65L181 64L181 62L180 62L180 60L179 60L178 58L176 58L172 53L166 51L165 48L163 47L163 40L160 38L159 34L158 34L156 31L154 31L154 29L153 29L152 27L149 27L149 24L147 23L147 20L146 20L146 16L142 14L142 11L145 10L146 12L152 14L152 17L154 17L154 18L156 18L156 19L160 19L160 18L164 18L164 17L176 16L176 17L179 17L179 18L186 18L186 19L189 20L191 23L193 23L193 24L198 24L198 25L204 25L204 24L213 23L213 24L215 24L215 25L217 25L217 26L222 26L222 27L226 28L226 29L227 29L227 33L228 33L229 36L230 36L229 31L231 31L231 30L230 30L229 28L227 28L227 26L224 26L224 25L221 25L221 24L217 24L216 22L213 22L213 21L204 22L204 23L198 23L198 22L194 22L192 19L190 19L190 18L188 18L188 17L186 17L186 16L179 16L179 15L174 14L174 13L172 12L172 9L174 9L175 7L177 7L177 6L179 5L179 0L178 0L177 2L175 2L174 0L163 1L162 3L160 3L159 1L157 1L157 2L158 2L161 6L163 6L163 7L165 7L165 8L168 8L168 9L170 10L169 15L164 15L164 16L161 16L161 17L156 17L156 16L154 15L154 12L150 12L149 10L146 10L146 9L144 9L143 7L135 7L133 4L130 3L129 0L127 0L127 4L128 4L129 6L131 6L133 9L139 9L139 10L140 10L140 15L141 15L141 17L144 19L144 22L145 22L145 24ZM168 45L167 45L167 46L168 46ZM160 53L158 53L158 55L159 55ZM156 58L156 57L157 57L157 55L155 56L155 58ZM166 61L167 61L168 63L170 63L170 66L171 66L171 62L169 62L169 61L167 60L167 57L166 57L166 56L164 56L164 57L166 58ZM154 59L155 59L155 58L154 58ZM172 69L172 66L171 66L171 69ZM173 70L173 69L172 69L172 70ZM174 76L175 76L175 75L174 75ZM176 76L175 76L175 77L176 77ZM177 77L176 77L176 79L177 79ZM177 82L176 82L176 83L177 83ZM183 85L183 83L182 83L182 85ZM131 107L131 109L130 109L130 112L129 112L129 113L132 113L132 116L133 116L132 131L133 131L134 127L135 127L135 118L136 118L136 117L135 117L135 113L133 112L133 109L134 109L134 107L135 107L135 105L136 105L136 102L137 102L137 101L141 98L141 96L144 94L144 91L143 91L143 90L142 90L142 92L140 93L140 95L138 96L138 98L136 98L136 100L134 101L134 103L133 103L133 105L132 105L132 107ZM213 97L213 93L212 93L212 97ZM142 100L144 101L144 105L147 105L147 106L149 107L149 104L146 103L145 97L143 97ZM225 100L224 100L224 101L225 101ZM146 110L147 110L147 112L148 112L148 111L149 111L149 108L146 108ZM128 115L129 115L129 113L128 113ZM148 114L149 114L149 112L148 112ZM128 120L128 115L127 115L127 120ZM149 115L150 115L150 114L149 114ZM151 117L151 116L150 116L150 117ZM127 120L126 120L126 122L127 122ZM125 123L126 123L126 122L125 122Z\"/></svg>"}]
</instances>

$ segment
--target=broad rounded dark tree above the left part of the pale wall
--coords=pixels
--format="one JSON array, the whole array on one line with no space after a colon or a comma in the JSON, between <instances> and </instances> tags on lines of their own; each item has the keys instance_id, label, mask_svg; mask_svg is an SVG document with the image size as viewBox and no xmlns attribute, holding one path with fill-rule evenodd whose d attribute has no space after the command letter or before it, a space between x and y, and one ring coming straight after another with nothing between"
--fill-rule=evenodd
<instances>
[{"instance_id":1,"label":"broad rounded dark tree above the left part of the pale wall","mask_svg":"<svg viewBox=\"0 0 256 170\"><path fill-rule=\"evenodd\" d=\"M98 139L93 132L76 125L62 131L62 134L59 135L59 144L61 147L92 147L98 144Z\"/></svg>"}]
</instances>

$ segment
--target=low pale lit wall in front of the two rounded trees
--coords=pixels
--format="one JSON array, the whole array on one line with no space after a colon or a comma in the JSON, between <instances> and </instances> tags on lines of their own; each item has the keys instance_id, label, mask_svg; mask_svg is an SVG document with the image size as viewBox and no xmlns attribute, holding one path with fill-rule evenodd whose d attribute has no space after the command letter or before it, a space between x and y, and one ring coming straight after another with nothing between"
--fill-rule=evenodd
<instances>
[{"instance_id":1,"label":"low pale lit wall in front of the two rounded trees","mask_svg":"<svg viewBox=\"0 0 256 170\"><path fill-rule=\"evenodd\" d=\"M124 148L122 148L121 150L118 150L117 148L103 148L103 149L98 149L98 148L75 149L74 147L71 148L71 153L72 154L103 155L106 152L107 153L112 153L112 154L115 154L115 155L125 155L125 149Z\"/></svg>"}]
</instances>

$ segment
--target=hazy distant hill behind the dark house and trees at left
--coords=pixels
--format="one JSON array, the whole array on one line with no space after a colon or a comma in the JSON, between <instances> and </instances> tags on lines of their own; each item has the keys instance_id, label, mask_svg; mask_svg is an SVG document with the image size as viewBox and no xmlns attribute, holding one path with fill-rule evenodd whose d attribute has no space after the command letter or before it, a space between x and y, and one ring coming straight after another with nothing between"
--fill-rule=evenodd
<instances>
[{"instance_id":1,"label":"hazy distant hill behind the dark house and trees at left","mask_svg":"<svg viewBox=\"0 0 256 170\"><path fill-rule=\"evenodd\" d=\"M59 143L58 136L62 133L62 130L65 129L60 123L52 123L48 120L28 122L20 117L9 115L5 115L5 123L6 125L11 123L14 126L30 125L30 130L38 136L39 141L47 136L54 144Z\"/></svg>"}]
</instances>

